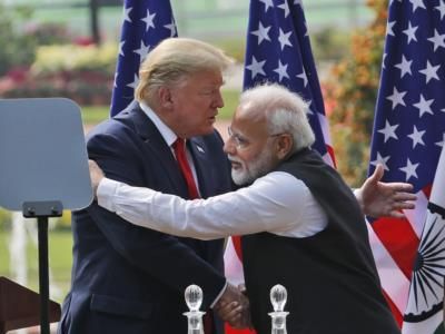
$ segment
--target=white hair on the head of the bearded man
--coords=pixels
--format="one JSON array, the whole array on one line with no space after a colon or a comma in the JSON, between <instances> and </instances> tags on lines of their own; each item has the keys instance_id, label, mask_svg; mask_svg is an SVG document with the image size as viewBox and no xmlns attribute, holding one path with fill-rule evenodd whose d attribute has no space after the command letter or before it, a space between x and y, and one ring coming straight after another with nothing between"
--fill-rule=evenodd
<instances>
[{"instance_id":1,"label":"white hair on the head of the bearded man","mask_svg":"<svg viewBox=\"0 0 445 334\"><path fill-rule=\"evenodd\" d=\"M308 104L277 84L261 84L241 94L239 107L251 117L266 116L269 135L290 134L293 153L309 147L315 135L307 119Z\"/></svg>"}]
</instances>

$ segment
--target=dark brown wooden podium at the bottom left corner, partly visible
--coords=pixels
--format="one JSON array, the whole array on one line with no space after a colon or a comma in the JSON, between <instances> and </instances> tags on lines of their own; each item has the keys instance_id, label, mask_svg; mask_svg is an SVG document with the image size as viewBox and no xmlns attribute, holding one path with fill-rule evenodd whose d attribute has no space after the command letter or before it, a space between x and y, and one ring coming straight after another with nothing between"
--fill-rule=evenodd
<instances>
[{"instance_id":1,"label":"dark brown wooden podium at the bottom left corner, partly visible","mask_svg":"<svg viewBox=\"0 0 445 334\"><path fill-rule=\"evenodd\" d=\"M60 305L50 302L49 320L60 320ZM40 324L40 297L33 291L0 277L0 334Z\"/></svg>"}]
</instances>

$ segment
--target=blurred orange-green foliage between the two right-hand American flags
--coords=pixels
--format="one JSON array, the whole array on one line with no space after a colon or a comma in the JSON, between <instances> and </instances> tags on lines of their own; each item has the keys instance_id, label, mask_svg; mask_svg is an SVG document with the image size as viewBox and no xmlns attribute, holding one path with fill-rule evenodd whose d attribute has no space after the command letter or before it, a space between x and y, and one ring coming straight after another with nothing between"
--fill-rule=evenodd
<instances>
[{"instance_id":1,"label":"blurred orange-green foliage between the two right-hand American flags","mask_svg":"<svg viewBox=\"0 0 445 334\"><path fill-rule=\"evenodd\" d=\"M350 55L333 69L326 82L338 169L353 186L365 179L369 161L388 0L368 0L367 6L375 11L375 19L354 33Z\"/></svg>"}]
</instances>

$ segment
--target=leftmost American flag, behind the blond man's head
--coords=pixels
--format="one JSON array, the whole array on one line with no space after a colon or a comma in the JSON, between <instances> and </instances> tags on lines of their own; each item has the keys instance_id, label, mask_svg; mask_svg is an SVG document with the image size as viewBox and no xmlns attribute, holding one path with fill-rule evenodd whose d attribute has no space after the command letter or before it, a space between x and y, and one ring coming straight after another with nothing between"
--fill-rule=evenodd
<instances>
[{"instance_id":1,"label":"leftmost American flag, behind the blond man's head","mask_svg":"<svg viewBox=\"0 0 445 334\"><path fill-rule=\"evenodd\" d=\"M111 116L132 100L139 81L139 65L162 39L176 37L169 0L126 0L119 56L112 90Z\"/></svg>"}]
</instances>

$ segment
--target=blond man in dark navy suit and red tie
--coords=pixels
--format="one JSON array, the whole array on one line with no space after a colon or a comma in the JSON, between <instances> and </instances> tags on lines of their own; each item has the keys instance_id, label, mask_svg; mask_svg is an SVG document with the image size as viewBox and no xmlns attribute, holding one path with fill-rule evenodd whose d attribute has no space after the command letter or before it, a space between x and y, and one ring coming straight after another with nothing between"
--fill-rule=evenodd
<instances>
[{"instance_id":1,"label":"blond man in dark navy suit and red tie","mask_svg":"<svg viewBox=\"0 0 445 334\"><path fill-rule=\"evenodd\" d=\"M182 198L228 191L229 164L212 125L229 62L196 40L161 42L141 65L138 104L88 136L90 158L115 179ZM137 227L96 203L73 213L72 232L72 287L59 333L186 333L184 291L190 284L204 291L206 334L222 333L212 306L247 303L224 277L222 239Z\"/></svg>"}]
</instances>

